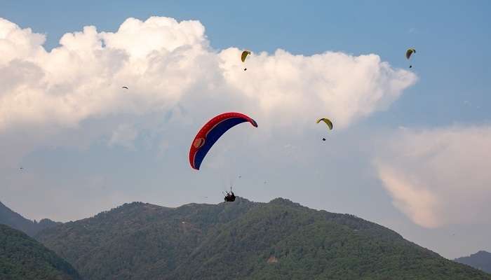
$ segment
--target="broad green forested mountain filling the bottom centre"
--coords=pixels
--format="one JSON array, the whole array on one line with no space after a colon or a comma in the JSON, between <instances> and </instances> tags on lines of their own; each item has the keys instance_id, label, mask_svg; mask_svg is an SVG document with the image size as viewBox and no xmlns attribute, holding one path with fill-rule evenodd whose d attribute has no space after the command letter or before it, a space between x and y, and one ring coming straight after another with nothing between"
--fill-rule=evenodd
<instances>
[{"instance_id":1,"label":"broad green forested mountain filling the bottom centre","mask_svg":"<svg viewBox=\"0 0 491 280\"><path fill-rule=\"evenodd\" d=\"M142 202L36 236L85 279L491 279L396 232L289 200Z\"/></svg>"}]
</instances>

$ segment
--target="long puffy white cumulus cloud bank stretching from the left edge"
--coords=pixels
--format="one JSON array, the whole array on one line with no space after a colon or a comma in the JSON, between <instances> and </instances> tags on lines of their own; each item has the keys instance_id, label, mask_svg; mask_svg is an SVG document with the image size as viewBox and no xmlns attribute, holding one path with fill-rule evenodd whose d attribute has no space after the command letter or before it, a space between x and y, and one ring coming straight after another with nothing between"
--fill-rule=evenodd
<instances>
[{"instance_id":1,"label":"long puffy white cumulus cloud bank stretching from the left edge","mask_svg":"<svg viewBox=\"0 0 491 280\"><path fill-rule=\"evenodd\" d=\"M77 127L90 118L177 105L199 115L203 102L281 117L278 125L286 126L321 113L342 128L385 109L416 80L377 55L342 52L253 53L242 71L241 50L211 49L205 28L193 20L128 18L114 33L84 27L49 52L44 41L0 19L0 133L22 125Z\"/></svg>"}]
</instances>

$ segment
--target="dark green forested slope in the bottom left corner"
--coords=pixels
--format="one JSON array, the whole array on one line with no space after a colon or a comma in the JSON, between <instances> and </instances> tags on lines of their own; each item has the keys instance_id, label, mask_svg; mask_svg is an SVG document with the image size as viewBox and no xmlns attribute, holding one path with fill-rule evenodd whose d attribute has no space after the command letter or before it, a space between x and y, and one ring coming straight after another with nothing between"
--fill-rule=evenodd
<instances>
[{"instance_id":1,"label":"dark green forested slope in the bottom left corner","mask_svg":"<svg viewBox=\"0 0 491 280\"><path fill-rule=\"evenodd\" d=\"M78 280L78 272L53 251L19 230L0 225L0 279Z\"/></svg>"}]
</instances>

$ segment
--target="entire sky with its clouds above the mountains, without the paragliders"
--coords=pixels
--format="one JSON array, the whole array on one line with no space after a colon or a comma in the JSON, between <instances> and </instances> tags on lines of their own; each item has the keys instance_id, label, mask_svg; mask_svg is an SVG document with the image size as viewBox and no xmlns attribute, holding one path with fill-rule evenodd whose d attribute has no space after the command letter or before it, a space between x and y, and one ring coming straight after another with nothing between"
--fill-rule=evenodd
<instances>
[{"instance_id":1,"label":"entire sky with its clouds above the mountains, without the paragliders","mask_svg":"<svg viewBox=\"0 0 491 280\"><path fill-rule=\"evenodd\" d=\"M202 2L0 1L0 201L75 221L233 184L446 258L491 251L489 1ZM227 111L258 127L191 169Z\"/></svg>"}]
</instances>

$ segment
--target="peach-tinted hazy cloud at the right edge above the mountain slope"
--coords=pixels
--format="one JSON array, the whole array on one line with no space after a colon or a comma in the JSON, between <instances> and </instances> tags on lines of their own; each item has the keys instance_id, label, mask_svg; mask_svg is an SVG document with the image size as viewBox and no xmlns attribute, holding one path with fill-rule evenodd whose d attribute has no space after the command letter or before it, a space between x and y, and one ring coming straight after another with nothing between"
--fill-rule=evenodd
<instances>
[{"instance_id":1,"label":"peach-tinted hazy cloud at the right edge above the mountain slope","mask_svg":"<svg viewBox=\"0 0 491 280\"><path fill-rule=\"evenodd\" d=\"M375 160L394 205L425 228L489 223L491 127L400 130Z\"/></svg>"}]
</instances>

